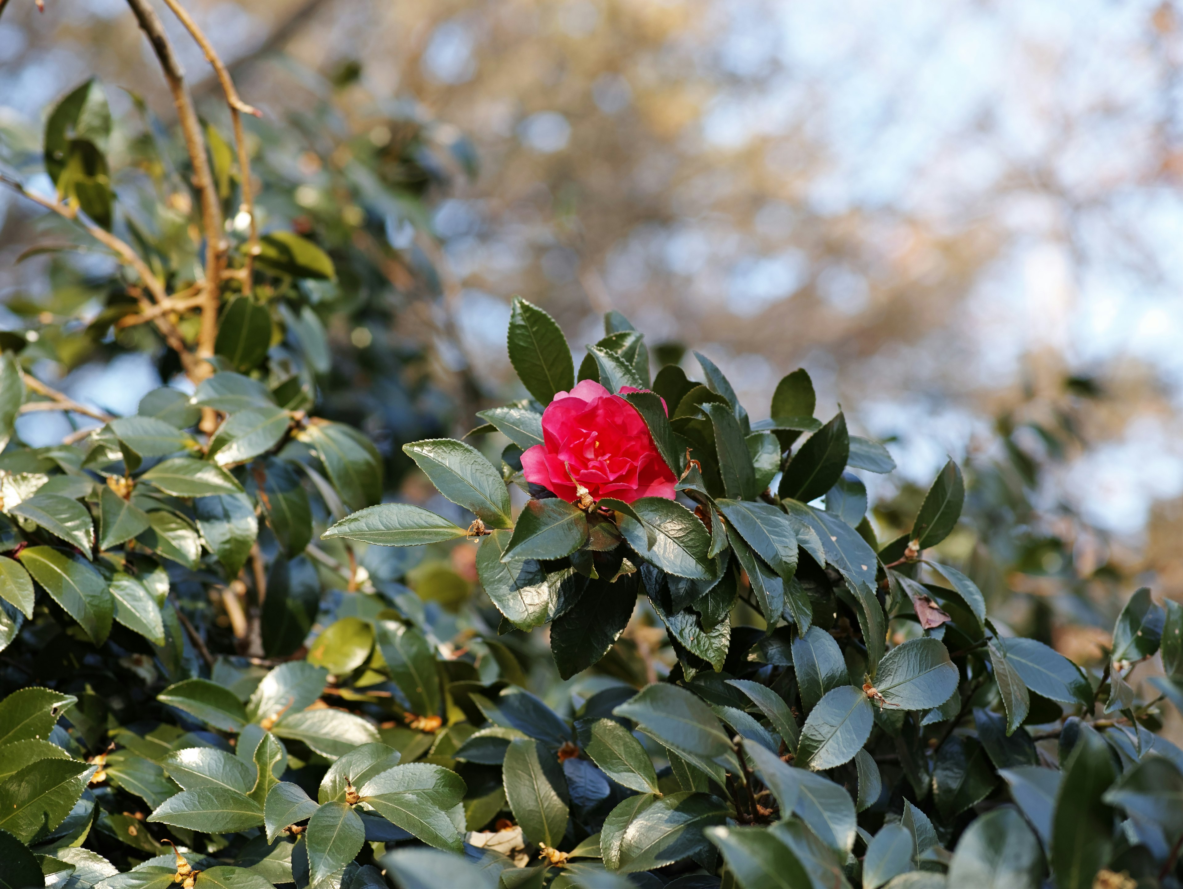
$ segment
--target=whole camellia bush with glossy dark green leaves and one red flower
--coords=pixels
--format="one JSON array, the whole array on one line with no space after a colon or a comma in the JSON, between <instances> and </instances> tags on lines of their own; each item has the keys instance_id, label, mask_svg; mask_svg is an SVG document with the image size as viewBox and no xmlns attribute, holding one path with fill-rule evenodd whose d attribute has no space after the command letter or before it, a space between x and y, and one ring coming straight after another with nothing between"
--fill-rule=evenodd
<instances>
[{"instance_id":1,"label":"whole camellia bush with glossy dark green leaves and one red flower","mask_svg":"<svg viewBox=\"0 0 1183 889\"><path fill-rule=\"evenodd\" d=\"M283 134L252 148L212 50L232 135L200 122L130 6L183 150L154 124L112 162L91 82L47 118L56 194L5 174L118 268L85 326L26 305L0 339L0 887L1178 885L1176 604L1134 593L1097 669L1016 637L938 555L956 464L880 542L851 470L894 463L806 372L752 420L706 356L651 375L616 313L576 369L515 299L529 397L375 443L324 331L377 328L392 265L432 292L392 223L428 199L426 128L304 157L344 208L305 182L297 213ZM189 391L116 418L37 375L137 350ZM30 447L41 411L101 425ZM411 464L432 509L383 502Z\"/></svg>"}]
</instances>

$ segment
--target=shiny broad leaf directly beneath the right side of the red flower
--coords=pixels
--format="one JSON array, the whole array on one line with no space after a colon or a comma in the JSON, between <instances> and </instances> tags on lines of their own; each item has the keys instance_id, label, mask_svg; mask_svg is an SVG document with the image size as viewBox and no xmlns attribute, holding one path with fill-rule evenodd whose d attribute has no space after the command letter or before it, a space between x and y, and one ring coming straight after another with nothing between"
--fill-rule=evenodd
<instances>
[{"instance_id":1,"label":"shiny broad leaf directly beneath the right side of the red flower","mask_svg":"<svg viewBox=\"0 0 1183 889\"><path fill-rule=\"evenodd\" d=\"M664 497L641 497L632 503L640 522L620 515L620 533L647 562L680 578L706 580L715 575L707 555L711 535L698 516L680 503ZM654 543L648 545L648 534Z\"/></svg>"}]
</instances>

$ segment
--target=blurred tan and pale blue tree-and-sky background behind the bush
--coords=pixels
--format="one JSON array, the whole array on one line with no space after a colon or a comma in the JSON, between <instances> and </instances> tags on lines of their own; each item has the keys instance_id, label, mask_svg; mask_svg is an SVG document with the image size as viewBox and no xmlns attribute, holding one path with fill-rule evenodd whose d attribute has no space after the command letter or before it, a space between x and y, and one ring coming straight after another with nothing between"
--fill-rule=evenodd
<instances>
[{"instance_id":1,"label":"blurred tan and pale blue tree-and-sky background behind the bush","mask_svg":"<svg viewBox=\"0 0 1183 889\"><path fill-rule=\"evenodd\" d=\"M172 120L123 2L46 6L11 0L0 18L9 138L35 135L91 73L117 114L132 105L123 86ZM899 465L867 478L881 539L906 528L946 455L963 463L968 530L948 546L1013 598L1015 625L1078 661L1098 656L1134 586L1183 595L1175 4L187 6L265 112L258 125L323 98L318 72L358 112L342 127L376 102L471 141L479 170L429 204L439 295L390 314L390 331L335 331L342 352L424 344L451 431L518 394L511 295L555 315L577 349L618 309L661 354L686 343L713 359L756 418L806 367L819 415L841 405ZM218 108L201 53L162 18ZM296 146L285 170L295 201L331 200L302 159ZM37 219L0 194L5 305L64 285L45 257L17 263ZM403 237L397 220L387 234ZM27 323L0 310L0 328ZM142 360L59 371L72 395L121 413L161 382ZM46 415L21 423L34 444L62 436Z\"/></svg>"}]
</instances>

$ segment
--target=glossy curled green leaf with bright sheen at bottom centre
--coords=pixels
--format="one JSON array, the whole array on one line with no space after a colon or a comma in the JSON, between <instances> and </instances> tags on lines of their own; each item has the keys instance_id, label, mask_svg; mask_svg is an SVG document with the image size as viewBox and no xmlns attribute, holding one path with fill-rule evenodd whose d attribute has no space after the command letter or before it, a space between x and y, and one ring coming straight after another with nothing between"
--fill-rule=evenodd
<instances>
[{"instance_id":1,"label":"glossy curled green leaf with bright sheen at bottom centre","mask_svg":"<svg viewBox=\"0 0 1183 889\"><path fill-rule=\"evenodd\" d=\"M706 793L671 793L638 812L620 839L618 870L635 874L710 849L703 835L728 818L723 800Z\"/></svg>"}]
</instances>

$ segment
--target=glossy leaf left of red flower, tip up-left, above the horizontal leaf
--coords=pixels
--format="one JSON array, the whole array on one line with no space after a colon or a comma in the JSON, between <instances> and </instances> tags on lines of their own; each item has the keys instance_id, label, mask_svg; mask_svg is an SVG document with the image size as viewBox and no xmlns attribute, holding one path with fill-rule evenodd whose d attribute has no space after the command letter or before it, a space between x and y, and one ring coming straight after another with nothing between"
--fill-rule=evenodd
<instances>
[{"instance_id":1,"label":"glossy leaf left of red flower, tip up-left, above the horizontal leaf","mask_svg":"<svg viewBox=\"0 0 1183 889\"><path fill-rule=\"evenodd\" d=\"M490 528L513 526L505 481L476 447L437 438L403 445L402 450L450 501L474 513Z\"/></svg>"}]
</instances>

